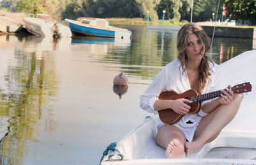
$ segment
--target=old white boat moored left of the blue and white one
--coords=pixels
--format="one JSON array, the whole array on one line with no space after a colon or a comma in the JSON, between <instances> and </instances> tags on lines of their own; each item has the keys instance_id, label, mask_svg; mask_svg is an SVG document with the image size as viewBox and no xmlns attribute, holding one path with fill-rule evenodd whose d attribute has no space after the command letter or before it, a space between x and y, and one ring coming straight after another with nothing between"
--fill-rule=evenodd
<instances>
[{"instance_id":1,"label":"old white boat moored left of the blue and white one","mask_svg":"<svg viewBox=\"0 0 256 165\"><path fill-rule=\"evenodd\" d=\"M50 15L37 14L36 18L25 17L23 19L29 33L37 36L70 37L72 33L67 26L56 20L51 20Z\"/></svg>"}]
</instances>

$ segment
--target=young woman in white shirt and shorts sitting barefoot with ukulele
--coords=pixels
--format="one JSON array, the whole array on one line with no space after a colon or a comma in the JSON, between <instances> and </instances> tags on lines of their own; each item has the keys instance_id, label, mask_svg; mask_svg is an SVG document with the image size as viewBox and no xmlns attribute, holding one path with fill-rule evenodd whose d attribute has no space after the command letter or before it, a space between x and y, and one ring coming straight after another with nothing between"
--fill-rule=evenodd
<instances>
[{"instance_id":1,"label":"young woman in white shirt and shorts sitting barefoot with ukulele","mask_svg":"<svg viewBox=\"0 0 256 165\"><path fill-rule=\"evenodd\" d=\"M159 120L156 143L166 149L168 158L184 158L216 139L236 116L243 100L243 95L234 95L229 89L230 85L222 91L224 95L221 97L202 102L199 113L189 113L191 107L185 102L191 101L186 98L159 100L159 95L166 90L184 93L193 89L200 94L220 90L222 72L205 55L210 45L202 27L192 23L183 26L177 35L177 48L177 59L156 75L140 97L141 108L150 113L173 109L175 113L184 115L174 124L165 124Z\"/></svg>"}]
</instances>

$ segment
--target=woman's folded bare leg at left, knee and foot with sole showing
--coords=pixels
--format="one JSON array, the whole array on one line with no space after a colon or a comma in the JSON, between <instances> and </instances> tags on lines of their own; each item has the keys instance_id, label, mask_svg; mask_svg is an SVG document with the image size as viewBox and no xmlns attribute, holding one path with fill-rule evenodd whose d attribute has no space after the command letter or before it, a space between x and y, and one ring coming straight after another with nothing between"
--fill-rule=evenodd
<instances>
[{"instance_id":1,"label":"woman's folded bare leg at left, knee and foot with sole showing","mask_svg":"<svg viewBox=\"0 0 256 165\"><path fill-rule=\"evenodd\" d=\"M166 149L167 158L186 157L184 145L186 137L184 133L173 125L163 125L156 135L156 143Z\"/></svg>"}]
</instances>

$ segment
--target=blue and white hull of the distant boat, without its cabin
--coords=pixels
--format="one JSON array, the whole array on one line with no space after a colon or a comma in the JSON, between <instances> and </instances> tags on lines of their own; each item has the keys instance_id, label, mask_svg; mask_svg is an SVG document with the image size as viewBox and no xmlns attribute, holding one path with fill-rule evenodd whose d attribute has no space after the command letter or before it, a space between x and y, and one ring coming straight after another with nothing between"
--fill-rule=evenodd
<instances>
[{"instance_id":1,"label":"blue and white hull of the distant boat, without its cabin","mask_svg":"<svg viewBox=\"0 0 256 165\"><path fill-rule=\"evenodd\" d=\"M130 38L131 36L131 31L128 31L127 29L114 28L111 26L109 26L109 28L90 27L76 20L65 20L71 31L78 35L102 36L111 38Z\"/></svg>"}]
</instances>

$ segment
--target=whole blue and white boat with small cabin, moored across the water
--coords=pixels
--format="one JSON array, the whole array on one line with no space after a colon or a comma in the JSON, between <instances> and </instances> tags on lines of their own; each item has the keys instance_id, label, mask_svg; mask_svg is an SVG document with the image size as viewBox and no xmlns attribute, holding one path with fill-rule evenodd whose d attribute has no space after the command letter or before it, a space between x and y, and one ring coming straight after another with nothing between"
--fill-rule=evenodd
<instances>
[{"instance_id":1,"label":"whole blue and white boat with small cabin, moored across the water","mask_svg":"<svg viewBox=\"0 0 256 165\"><path fill-rule=\"evenodd\" d=\"M77 35L104 36L111 38L130 38L131 31L123 28L109 26L106 19L87 18L80 22L65 19L71 31Z\"/></svg>"}]
</instances>

